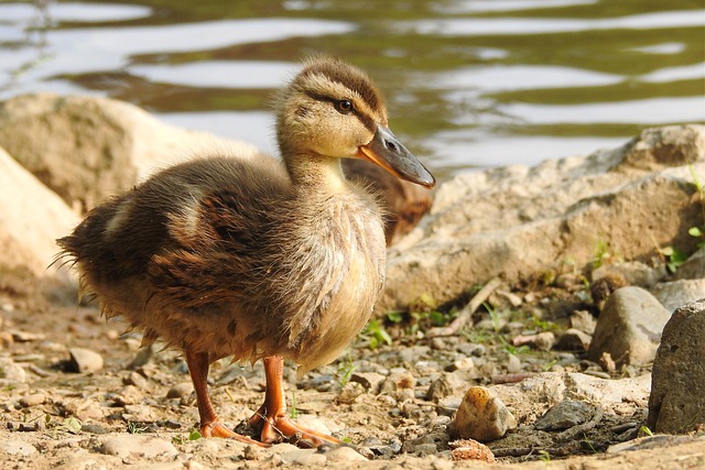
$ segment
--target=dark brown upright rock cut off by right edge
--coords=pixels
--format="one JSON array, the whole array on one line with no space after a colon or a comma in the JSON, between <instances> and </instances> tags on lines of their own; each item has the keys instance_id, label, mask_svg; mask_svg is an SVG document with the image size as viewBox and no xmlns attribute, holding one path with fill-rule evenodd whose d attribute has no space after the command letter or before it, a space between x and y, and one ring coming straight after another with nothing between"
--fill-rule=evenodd
<instances>
[{"instance_id":1,"label":"dark brown upright rock cut off by right edge","mask_svg":"<svg viewBox=\"0 0 705 470\"><path fill-rule=\"evenodd\" d=\"M705 298L677 308L653 361L649 426L681 434L705 425Z\"/></svg>"}]
</instances>

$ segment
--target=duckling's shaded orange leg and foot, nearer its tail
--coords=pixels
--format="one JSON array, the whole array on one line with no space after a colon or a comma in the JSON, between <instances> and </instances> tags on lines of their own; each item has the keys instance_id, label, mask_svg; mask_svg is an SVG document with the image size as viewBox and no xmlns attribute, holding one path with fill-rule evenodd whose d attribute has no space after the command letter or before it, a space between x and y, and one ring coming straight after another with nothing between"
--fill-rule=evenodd
<instances>
[{"instance_id":1,"label":"duckling's shaded orange leg and foot, nearer its tail","mask_svg":"<svg viewBox=\"0 0 705 470\"><path fill-rule=\"evenodd\" d=\"M220 418L213 408L210 395L208 394L208 353L186 350L186 363L188 364L191 380L194 382L194 390L196 391L198 416L200 417L200 435L203 437L224 437L239 440L240 442L269 447L269 444L258 442L249 437L241 436L220 423Z\"/></svg>"}]
</instances>

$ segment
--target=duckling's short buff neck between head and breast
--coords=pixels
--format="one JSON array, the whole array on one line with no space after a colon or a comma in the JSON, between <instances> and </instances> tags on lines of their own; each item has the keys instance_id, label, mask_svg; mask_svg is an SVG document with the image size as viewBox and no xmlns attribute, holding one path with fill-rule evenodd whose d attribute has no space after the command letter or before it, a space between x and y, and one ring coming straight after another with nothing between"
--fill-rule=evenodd
<instances>
[{"instance_id":1,"label":"duckling's short buff neck between head and breast","mask_svg":"<svg viewBox=\"0 0 705 470\"><path fill-rule=\"evenodd\" d=\"M339 159L308 154L286 155L284 163L292 184L304 193L335 194L348 188Z\"/></svg>"}]
</instances>

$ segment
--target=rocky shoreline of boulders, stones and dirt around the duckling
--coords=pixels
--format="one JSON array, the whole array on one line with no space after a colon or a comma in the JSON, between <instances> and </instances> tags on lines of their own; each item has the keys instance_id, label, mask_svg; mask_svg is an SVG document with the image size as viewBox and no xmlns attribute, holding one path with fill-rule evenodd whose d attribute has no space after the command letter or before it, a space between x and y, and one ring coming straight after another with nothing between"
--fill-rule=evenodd
<instances>
[{"instance_id":1,"label":"rocky shoreline of boulders, stones and dirt around the duckling","mask_svg":"<svg viewBox=\"0 0 705 470\"><path fill-rule=\"evenodd\" d=\"M139 350L46 270L80 211L214 147L257 155L109 99L0 103L3 468L705 464L704 125L444 183L389 251L377 318L289 376L296 419L349 442L323 451L197 438L184 361ZM259 364L213 376L227 422L257 409Z\"/></svg>"}]
</instances>

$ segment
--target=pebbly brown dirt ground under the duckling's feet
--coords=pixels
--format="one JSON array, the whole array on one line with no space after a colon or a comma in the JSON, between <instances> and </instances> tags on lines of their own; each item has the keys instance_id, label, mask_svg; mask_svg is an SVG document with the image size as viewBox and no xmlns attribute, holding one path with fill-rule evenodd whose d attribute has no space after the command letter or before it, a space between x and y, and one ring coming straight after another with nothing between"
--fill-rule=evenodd
<instances>
[{"instance_id":1,"label":"pebbly brown dirt ground under the duckling's feet","mask_svg":"<svg viewBox=\"0 0 705 470\"><path fill-rule=\"evenodd\" d=\"M552 329L557 335L575 309L594 311L576 285L579 283L552 288L538 284L506 286L514 297L524 299L521 306L505 308L496 296L496 309L477 313L473 329L442 339L429 339L423 332L442 324L443 315L420 308L412 316L392 316L395 323L380 320L368 328L335 363L297 381L293 368L289 368L286 394L290 405L295 401L290 408L296 420L333 433L369 459L357 460L339 453L334 458L336 452L329 449L297 451L288 444L261 449L197 438L193 389L177 351L140 350L139 332L123 334L119 321L106 323L95 306L77 306L75 293L37 287L33 278L10 273L0 278L0 360L6 367L0 375L0 468L131 464L264 469L296 463L346 469L705 468L702 434L648 436L642 428L646 400L603 406L593 403L600 409L599 416L564 431L560 439L558 433L533 427L546 411L545 404L508 404L519 427L488 444L496 463L451 460L447 424L453 400L463 393L434 400L429 389L468 354L475 365L467 371L467 386L519 382L546 371L606 375L579 353L512 346L520 334ZM542 313L540 320L538 310ZM481 348L469 353L478 345ZM69 348L96 351L105 364L96 372L72 372ZM510 354L520 359L520 370L512 365ZM18 365L24 378L18 378L22 375ZM648 372L625 369L612 376ZM214 404L229 425L238 427L261 404L261 364L251 368L220 361L214 364L210 378ZM376 392L362 385L369 378L381 380ZM118 437L135 448L128 453L106 450L106 442L115 444ZM628 449L615 452L611 447L608 451L616 445Z\"/></svg>"}]
</instances>

